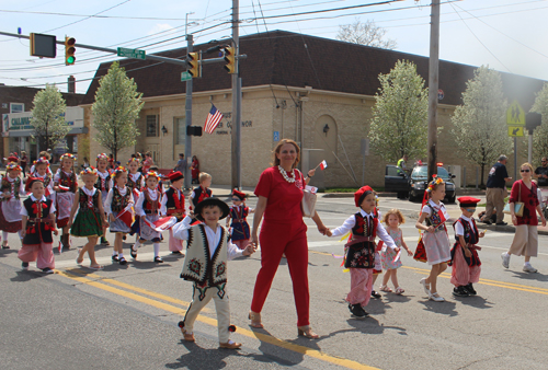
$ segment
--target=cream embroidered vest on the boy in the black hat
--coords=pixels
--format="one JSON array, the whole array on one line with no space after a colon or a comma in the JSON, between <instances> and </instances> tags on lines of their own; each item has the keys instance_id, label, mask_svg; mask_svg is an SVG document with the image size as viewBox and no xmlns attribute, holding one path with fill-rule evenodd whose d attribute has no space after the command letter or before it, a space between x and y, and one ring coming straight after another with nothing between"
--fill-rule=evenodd
<instances>
[{"instance_id":1,"label":"cream embroidered vest on the boy in the black hat","mask_svg":"<svg viewBox=\"0 0 548 370\"><path fill-rule=\"evenodd\" d=\"M181 278L209 287L227 282L228 233L224 227L220 228L220 241L213 257L209 257L205 226L199 223L189 229L189 241Z\"/></svg>"}]
</instances>

